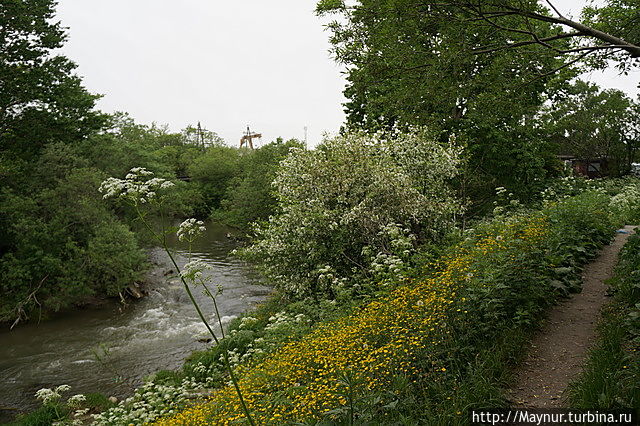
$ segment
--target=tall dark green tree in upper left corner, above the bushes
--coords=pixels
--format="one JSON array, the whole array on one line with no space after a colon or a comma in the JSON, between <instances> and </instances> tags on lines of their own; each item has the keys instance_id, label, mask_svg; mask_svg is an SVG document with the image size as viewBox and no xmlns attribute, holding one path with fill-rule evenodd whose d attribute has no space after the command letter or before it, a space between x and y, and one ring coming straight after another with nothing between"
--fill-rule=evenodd
<instances>
[{"instance_id":1,"label":"tall dark green tree in upper left corner, above the bushes","mask_svg":"<svg viewBox=\"0 0 640 426\"><path fill-rule=\"evenodd\" d=\"M57 54L66 36L54 19L54 0L0 2L0 150L28 160L51 142L72 142L95 132L103 116L93 110L76 65Z\"/></svg>"}]
</instances>

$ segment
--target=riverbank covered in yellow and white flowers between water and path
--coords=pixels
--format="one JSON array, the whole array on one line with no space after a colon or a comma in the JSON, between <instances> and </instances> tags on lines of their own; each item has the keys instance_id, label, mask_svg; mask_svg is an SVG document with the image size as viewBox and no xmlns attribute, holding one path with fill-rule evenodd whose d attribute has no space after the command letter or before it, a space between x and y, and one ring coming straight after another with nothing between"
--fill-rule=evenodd
<instances>
[{"instance_id":1,"label":"riverbank covered in yellow and white flowers between water and path","mask_svg":"<svg viewBox=\"0 0 640 426\"><path fill-rule=\"evenodd\" d=\"M462 406L500 405L503 373L517 351L504 336L522 341L547 306L578 289L580 265L611 236L608 203L604 194L588 193L542 212L478 224L475 232L452 240L452 247L440 248L440 261L423 253L423 263L404 270L401 281L386 282L363 298L296 302L275 295L234 320L221 348L195 354L179 371L159 373L99 423L169 416L167 424L195 424L242 417L225 386L220 364L225 349L260 421L276 414L282 422L325 418L324 407L332 405L343 409L327 415L341 419L350 412L350 386L353 409L364 420L391 421L416 412L455 421ZM495 338L487 340L488 334ZM211 388L216 390L207 402L171 417L193 405L197 392ZM166 389L189 396L163 398ZM425 392L431 395L428 406L420 401ZM284 405L277 405L281 400ZM298 402L287 405L287 400ZM367 405L373 400L380 403Z\"/></svg>"}]
</instances>

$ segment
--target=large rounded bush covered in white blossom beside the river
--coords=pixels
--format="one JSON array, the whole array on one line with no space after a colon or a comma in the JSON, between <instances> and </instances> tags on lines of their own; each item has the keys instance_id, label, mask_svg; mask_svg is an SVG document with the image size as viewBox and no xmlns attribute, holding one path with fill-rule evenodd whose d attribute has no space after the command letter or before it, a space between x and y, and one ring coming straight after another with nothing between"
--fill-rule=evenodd
<instances>
[{"instance_id":1,"label":"large rounded bush covered in white blossom beside the river","mask_svg":"<svg viewBox=\"0 0 640 426\"><path fill-rule=\"evenodd\" d=\"M461 149L425 129L349 133L294 150L274 181L279 214L255 228L242 254L300 297L335 294L357 273L399 263L462 210L449 187Z\"/></svg>"}]
</instances>

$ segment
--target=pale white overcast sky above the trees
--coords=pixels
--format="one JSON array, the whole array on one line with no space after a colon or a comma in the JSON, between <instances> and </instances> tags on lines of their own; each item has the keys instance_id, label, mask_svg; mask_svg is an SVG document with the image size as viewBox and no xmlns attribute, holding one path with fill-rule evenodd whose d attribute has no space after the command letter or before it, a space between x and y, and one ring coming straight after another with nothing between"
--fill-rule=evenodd
<instances>
[{"instance_id":1,"label":"pale white overcast sky above the trees","mask_svg":"<svg viewBox=\"0 0 640 426\"><path fill-rule=\"evenodd\" d=\"M557 0L565 12L585 4ZM344 78L315 0L60 0L64 54L106 112L178 131L198 121L236 145L247 125L315 145L344 120ZM633 96L638 72L592 73Z\"/></svg>"}]
</instances>

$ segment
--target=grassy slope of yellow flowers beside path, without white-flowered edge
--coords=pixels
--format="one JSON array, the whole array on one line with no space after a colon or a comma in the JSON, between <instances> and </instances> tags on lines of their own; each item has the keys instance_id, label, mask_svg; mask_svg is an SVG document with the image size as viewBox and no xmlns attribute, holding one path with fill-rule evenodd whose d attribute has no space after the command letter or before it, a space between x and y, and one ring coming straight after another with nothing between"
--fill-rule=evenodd
<instances>
[{"instance_id":1,"label":"grassy slope of yellow flowers beside path, without white-flowered edge","mask_svg":"<svg viewBox=\"0 0 640 426\"><path fill-rule=\"evenodd\" d=\"M609 240L608 200L586 193L488 223L415 282L241 368L253 415L262 424L456 424L471 408L504 405L519 342ZM222 387L159 424L242 418Z\"/></svg>"}]
</instances>

